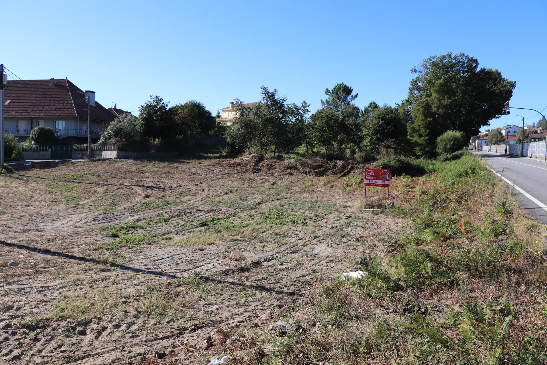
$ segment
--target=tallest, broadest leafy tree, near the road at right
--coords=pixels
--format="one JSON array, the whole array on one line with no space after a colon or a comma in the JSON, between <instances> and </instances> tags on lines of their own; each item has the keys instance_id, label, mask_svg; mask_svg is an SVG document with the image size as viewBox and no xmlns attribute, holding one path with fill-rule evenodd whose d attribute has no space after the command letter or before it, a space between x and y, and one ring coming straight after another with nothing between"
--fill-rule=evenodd
<instances>
[{"instance_id":1,"label":"tallest, broadest leafy tree, near the road at right","mask_svg":"<svg viewBox=\"0 0 547 365\"><path fill-rule=\"evenodd\" d=\"M466 137L478 134L482 126L490 125L491 119L500 117L503 103L511 99L515 88L515 82L502 77L497 69L478 67L477 59L463 53L423 60L419 67L411 69L416 77L410 82L401 115L413 123L416 103L434 98L429 103L431 110L443 113L432 115L433 123L449 120L449 129L462 131Z\"/></svg>"}]
</instances>

